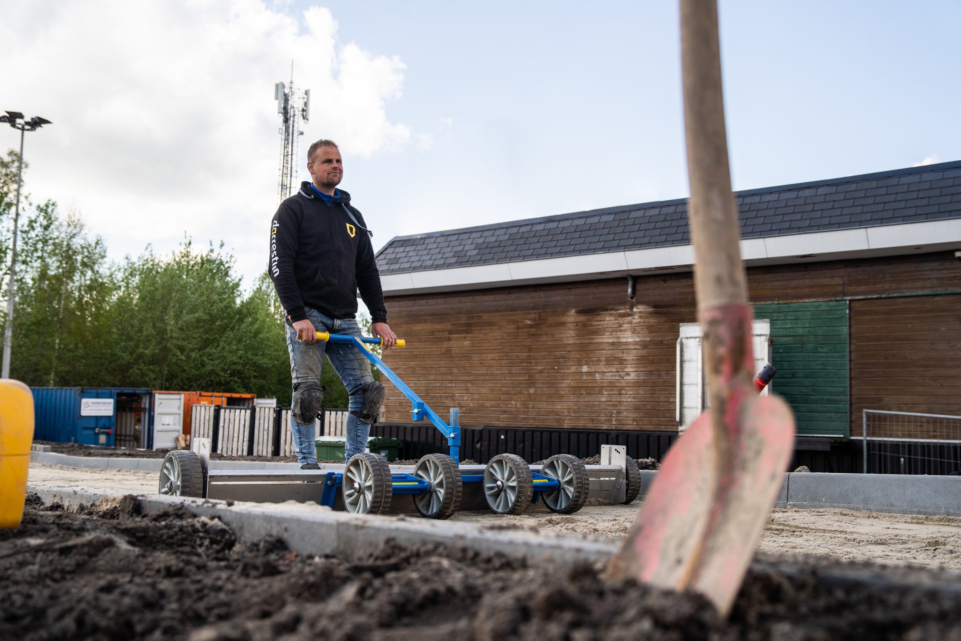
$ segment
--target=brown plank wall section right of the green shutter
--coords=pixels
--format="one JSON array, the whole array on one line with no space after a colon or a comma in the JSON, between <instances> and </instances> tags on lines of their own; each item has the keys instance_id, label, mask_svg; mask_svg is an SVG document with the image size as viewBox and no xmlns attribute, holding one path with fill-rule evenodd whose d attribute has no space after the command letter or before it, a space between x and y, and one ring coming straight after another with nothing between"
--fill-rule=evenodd
<instances>
[{"instance_id":1,"label":"brown plank wall section right of the green shutter","mask_svg":"<svg viewBox=\"0 0 961 641\"><path fill-rule=\"evenodd\" d=\"M961 294L851 301L850 357L852 436L863 409L961 416Z\"/></svg>"}]
</instances>

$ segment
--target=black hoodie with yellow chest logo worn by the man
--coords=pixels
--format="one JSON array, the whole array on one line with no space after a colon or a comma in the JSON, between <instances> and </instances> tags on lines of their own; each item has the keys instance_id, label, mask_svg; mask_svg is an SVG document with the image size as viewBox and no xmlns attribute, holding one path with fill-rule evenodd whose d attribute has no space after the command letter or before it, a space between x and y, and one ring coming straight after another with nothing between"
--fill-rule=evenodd
<instances>
[{"instance_id":1,"label":"black hoodie with yellow chest logo worn by the man","mask_svg":"<svg viewBox=\"0 0 961 641\"><path fill-rule=\"evenodd\" d=\"M381 274L363 216L351 195L325 203L310 183L281 203L270 225L267 272L291 322L307 318L305 307L336 319L357 314L357 290L374 323L387 322ZM357 219L352 220L350 213Z\"/></svg>"}]
</instances>

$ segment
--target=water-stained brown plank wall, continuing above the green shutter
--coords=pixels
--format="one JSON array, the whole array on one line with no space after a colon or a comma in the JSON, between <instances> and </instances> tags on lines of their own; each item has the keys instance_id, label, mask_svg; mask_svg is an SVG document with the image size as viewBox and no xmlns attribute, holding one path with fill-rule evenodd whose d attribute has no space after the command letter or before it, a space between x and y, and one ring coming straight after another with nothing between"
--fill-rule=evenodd
<instances>
[{"instance_id":1,"label":"water-stained brown plank wall, continuing above the green shutter","mask_svg":"<svg viewBox=\"0 0 961 641\"><path fill-rule=\"evenodd\" d=\"M942 252L748 277L755 303L836 301L961 289L961 261ZM638 276L633 301L627 289L621 277L389 296L408 347L385 360L441 416L459 407L465 426L676 431L678 327L697 320L691 274ZM382 421L409 422L410 404L385 386Z\"/></svg>"}]
</instances>

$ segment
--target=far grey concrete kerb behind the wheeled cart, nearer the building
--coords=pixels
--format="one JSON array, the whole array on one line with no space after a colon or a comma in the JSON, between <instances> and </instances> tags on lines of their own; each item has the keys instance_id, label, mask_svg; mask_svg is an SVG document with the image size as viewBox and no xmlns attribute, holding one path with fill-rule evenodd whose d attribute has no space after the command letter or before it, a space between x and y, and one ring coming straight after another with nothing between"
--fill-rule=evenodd
<instances>
[{"instance_id":1,"label":"far grey concrete kerb behind the wheeled cart, nearer the building","mask_svg":"<svg viewBox=\"0 0 961 641\"><path fill-rule=\"evenodd\" d=\"M160 472L160 458L68 456L31 452L31 461L92 469ZM266 461L211 461L213 470L292 470L296 463ZM656 472L641 470L641 495L646 495ZM776 507L840 508L857 511L961 517L961 477L900 474L784 474Z\"/></svg>"}]
</instances>

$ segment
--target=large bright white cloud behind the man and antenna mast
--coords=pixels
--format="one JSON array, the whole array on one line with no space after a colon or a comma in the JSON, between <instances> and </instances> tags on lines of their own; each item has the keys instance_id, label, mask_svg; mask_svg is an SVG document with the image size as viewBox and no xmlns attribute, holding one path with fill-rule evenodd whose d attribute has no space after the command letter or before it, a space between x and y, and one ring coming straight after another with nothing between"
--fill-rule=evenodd
<instances>
[{"instance_id":1,"label":"large bright white cloud behind the man and antenna mast","mask_svg":"<svg viewBox=\"0 0 961 641\"><path fill-rule=\"evenodd\" d=\"M300 24L286 7L48 0L5 8L0 107L54 123L28 135L35 200L77 207L113 257L148 242L169 250L186 232L205 245L224 239L241 271L259 273L277 206L273 85L288 82L291 61L295 84L311 90L302 158L319 137L365 157L415 139L387 113L403 95L404 62L341 44L327 9L310 8ZM15 137L0 134L0 150Z\"/></svg>"}]
</instances>

